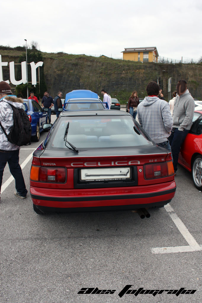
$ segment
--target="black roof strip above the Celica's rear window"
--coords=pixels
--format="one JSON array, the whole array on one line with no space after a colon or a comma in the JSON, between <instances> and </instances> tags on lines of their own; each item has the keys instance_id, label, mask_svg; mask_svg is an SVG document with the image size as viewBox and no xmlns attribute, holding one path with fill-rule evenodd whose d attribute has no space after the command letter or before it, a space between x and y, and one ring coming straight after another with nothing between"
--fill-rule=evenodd
<instances>
[{"instance_id":1,"label":"black roof strip above the Celica's rear window","mask_svg":"<svg viewBox=\"0 0 202 303\"><path fill-rule=\"evenodd\" d=\"M62 116L130 116L129 113L127 112L120 112L117 110L113 109L98 109L98 110L82 110L82 111L66 111L66 112L61 112L60 117Z\"/></svg>"}]
</instances>

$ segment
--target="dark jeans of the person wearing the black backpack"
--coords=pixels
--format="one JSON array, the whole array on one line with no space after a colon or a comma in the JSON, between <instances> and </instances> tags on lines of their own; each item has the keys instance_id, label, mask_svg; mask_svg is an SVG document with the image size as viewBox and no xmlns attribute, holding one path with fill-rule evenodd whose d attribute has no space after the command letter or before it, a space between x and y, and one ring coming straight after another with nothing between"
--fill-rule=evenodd
<instances>
[{"instance_id":1,"label":"dark jeans of the person wearing the black backpack","mask_svg":"<svg viewBox=\"0 0 202 303\"><path fill-rule=\"evenodd\" d=\"M27 195L27 190L22 175L22 169L19 165L19 149L15 151L6 152L0 151L0 192L2 187L3 172L7 162L10 172L15 178L15 188L17 192L19 193L19 195L25 197Z\"/></svg>"}]
</instances>

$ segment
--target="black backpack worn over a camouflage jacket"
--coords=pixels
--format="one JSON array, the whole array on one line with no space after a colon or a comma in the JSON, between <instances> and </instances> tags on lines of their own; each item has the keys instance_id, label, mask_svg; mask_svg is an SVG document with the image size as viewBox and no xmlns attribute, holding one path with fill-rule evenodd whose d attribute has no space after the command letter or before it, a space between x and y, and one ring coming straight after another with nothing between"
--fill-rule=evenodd
<instances>
[{"instance_id":1,"label":"black backpack worn over a camouflage jacket","mask_svg":"<svg viewBox=\"0 0 202 303\"><path fill-rule=\"evenodd\" d=\"M16 108L10 103L9 105L11 105L13 110L13 126L7 135L0 122L0 126L4 134L6 135L8 141L15 145L22 146L30 144L32 126L29 121L28 115L23 108Z\"/></svg>"}]
</instances>

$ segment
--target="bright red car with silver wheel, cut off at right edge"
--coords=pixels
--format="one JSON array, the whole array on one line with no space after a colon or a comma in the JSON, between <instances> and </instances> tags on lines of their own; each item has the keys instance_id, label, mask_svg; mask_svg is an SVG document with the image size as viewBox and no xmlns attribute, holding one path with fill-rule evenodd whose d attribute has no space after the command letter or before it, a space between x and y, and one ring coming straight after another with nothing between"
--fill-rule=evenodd
<instances>
[{"instance_id":1,"label":"bright red car with silver wheel, cut off at right edge","mask_svg":"<svg viewBox=\"0 0 202 303\"><path fill-rule=\"evenodd\" d=\"M195 111L193 125L180 149L178 162L192 172L194 185L202 189L202 111Z\"/></svg>"}]
</instances>

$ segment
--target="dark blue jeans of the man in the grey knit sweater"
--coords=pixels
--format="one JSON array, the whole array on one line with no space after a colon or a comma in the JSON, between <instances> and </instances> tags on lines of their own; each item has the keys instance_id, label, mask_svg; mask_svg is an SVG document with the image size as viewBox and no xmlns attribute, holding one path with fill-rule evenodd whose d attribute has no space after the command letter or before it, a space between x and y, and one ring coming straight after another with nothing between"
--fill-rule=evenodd
<instances>
[{"instance_id":1,"label":"dark blue jeans of the man in the grey knit sweater","mask_svg":"<svg viewBox=\"0 0 202 303\"><path fill-rule=\"evenodd\" d=\"M186 138L188 132L189 132L188 129L184 129L184 131L179 131L178 128L173 127L171 135L170 137L168 137L172 150L172 155L173 155L174 171L177 171L177 162L178 162L180 147L182 146L182 143L184 142L184 139Z\"/></svg>"}]
</instances>

